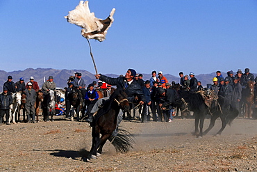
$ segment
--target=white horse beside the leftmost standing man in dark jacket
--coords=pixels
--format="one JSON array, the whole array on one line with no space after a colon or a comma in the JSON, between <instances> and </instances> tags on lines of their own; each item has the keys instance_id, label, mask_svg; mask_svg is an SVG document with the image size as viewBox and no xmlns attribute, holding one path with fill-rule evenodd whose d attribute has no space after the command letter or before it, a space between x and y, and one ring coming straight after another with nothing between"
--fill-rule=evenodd
<instances>
[{"instance_id":1,"label":"white horse beside the leftmost standing man in dark jacket","mask_svg":"<svg viewBox=\"0 0 257 172\"><path fill-rule=\"evenodd\" d=\"M10 117L12 116L13 123L16 124L15 114L19 109L19 106L22 104L22 93L20 92L13 93L12 98L13 98L13 104L10 105ZM10 118L8 122L10 123Z\"/></svg>"}]
</instances>

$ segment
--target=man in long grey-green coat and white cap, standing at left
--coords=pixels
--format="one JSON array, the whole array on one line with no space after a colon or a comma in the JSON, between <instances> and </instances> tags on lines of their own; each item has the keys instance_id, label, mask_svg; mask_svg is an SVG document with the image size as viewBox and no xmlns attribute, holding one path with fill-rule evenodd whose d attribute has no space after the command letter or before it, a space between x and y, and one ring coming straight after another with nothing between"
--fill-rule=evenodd
<instances>
[{"instance_id":1,"label":"man in long grey-green coat and white cap, standing at left","mask_svg":"<svg viewBox=\"0 0 257 172\"><path fill-rule=\"evenodd\" d=\"M35 123L35 90L32 88L32 83L28 82L28 88L24 91L26 94L25 111L27 115L27 123Z\"/></svg>"}]
</instances>

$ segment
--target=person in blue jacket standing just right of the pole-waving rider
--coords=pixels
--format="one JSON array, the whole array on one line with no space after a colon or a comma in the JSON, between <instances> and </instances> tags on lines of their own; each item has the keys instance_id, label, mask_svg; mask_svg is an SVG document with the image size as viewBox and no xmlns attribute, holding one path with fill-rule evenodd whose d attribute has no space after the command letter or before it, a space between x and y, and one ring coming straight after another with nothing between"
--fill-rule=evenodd
<instances>
[{"instance_id":1,"label":"person in blue jacket standing just right of the pole-waving rider","mask_svg":"<svg viewBox=\"0 0 257 172\"><path fill-rule=\"evenodd\" d=\"M141 122L144 123L145 117L147 117L147 121L150 120L149 107L151 105L151 88L149 80L145 81L142 91L144 93L145 103L143 104Z\"/></svg>"}]
</instances>

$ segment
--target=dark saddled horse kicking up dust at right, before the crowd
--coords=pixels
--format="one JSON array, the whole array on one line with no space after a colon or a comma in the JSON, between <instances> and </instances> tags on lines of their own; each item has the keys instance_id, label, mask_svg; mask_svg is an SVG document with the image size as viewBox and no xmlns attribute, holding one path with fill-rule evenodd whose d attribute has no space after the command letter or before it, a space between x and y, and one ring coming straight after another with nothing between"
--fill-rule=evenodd
<instances>
[{"instance_id":1,"label":"dark saddled horse kicking up dust at right, before the crowd","mask_svg":"<svg viewBox=\"0 0 257 172\"><path fill-rule=\"evenodd\" d=\"M200 138L203 135L207 134L214 127L215 120L217 118L221 118L222 120L222 127L219 130L219 132L217 132L216 134L216 135L220 135L222 134L222 131L224 130L226 125L227 124L231 125L232 121L238 116L238 109L236 109L235 104L227 100L225 97L221 95L218 95L217 99L210 104L210 107L208 107L205 104L204 99L200 95L200 93L188 92L183 97L184 99L182 99L183 103L181 105L181 109L183 110L189 109L190 111L194 111L194 115L195 115L194 134L196 134ZM199 110L201 110L201 113L199 112ZM206 114L211 114L210 125L208 129L203 132L204 118ZM197 120L199 119L200 119L200 125L199 125L200 132L198 134L199 122Z\"/></svg>"}]
</instances>

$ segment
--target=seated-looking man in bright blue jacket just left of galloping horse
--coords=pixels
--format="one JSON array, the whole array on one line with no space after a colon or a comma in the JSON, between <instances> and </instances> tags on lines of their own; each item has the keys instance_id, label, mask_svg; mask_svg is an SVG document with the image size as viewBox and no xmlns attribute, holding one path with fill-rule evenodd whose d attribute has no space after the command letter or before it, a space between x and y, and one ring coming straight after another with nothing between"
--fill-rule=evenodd
<instances>
[{"instance_id":1,"label":"seated-looking man in bright blue jacket just left of galloping horse","mask_svg":"<svg viewBox=\"0 0 257 172\"><path fill-rule=\"evenodd\" d=\"M85 93L85 103L88 107L88 118L86 119L87 122L92 123L93 120L93 114L90 113L90 111L92 110L92 108L94 107L94 104L97 102L98 100L98 93L97 91L94 90L94 85L93 84L89 84L88 86L88 91L86 91Z\"/></svg>"}]
</instances>

